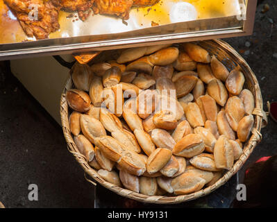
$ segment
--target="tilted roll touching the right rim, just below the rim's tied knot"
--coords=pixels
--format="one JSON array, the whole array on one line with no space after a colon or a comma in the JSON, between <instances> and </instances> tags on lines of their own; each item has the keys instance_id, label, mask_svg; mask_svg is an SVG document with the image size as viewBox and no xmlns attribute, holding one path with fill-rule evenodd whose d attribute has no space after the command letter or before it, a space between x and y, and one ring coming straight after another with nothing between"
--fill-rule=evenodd
<instances>
[{"instance_id":1,"label":"tilted roll touching the right rim, just below the rim's tied knot","mask_svg":"<svg viewBox=\"0 0 277 222\"><path fill-rule=\"evenodd\" d=\"M253 115L243 117L237 126L237 137L241 142L246 142L254 125Z\"/></svg>"}]
</instances>

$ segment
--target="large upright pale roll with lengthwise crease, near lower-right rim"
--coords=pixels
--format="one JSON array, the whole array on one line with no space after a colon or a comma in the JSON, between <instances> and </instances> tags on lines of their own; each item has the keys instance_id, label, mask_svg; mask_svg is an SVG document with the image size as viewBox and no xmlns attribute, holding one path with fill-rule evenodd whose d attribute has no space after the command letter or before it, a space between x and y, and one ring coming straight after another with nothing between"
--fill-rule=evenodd
<instances>
[{"instance_id":1,"label":"large upright pale roll with lengthwise crease, near lower-right rim","mask_svg":"<svg viewBox=\"0 0 277 222\"><path fill-rule=\"evenodd\" d=\"M230 144L229 139L221 135L215 143L214 149L215 166L217 169L230 170L234 164L234 151L233 146Z\"/></svg>"}]
</instances>

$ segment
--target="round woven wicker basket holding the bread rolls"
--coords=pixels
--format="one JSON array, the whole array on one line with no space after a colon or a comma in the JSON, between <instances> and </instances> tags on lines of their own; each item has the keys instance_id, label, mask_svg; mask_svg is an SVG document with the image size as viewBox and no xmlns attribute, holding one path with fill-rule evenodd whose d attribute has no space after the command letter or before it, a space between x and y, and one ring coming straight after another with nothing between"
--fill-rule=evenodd
<instances>
[{"instance_id":1,"label":"round woven wicker basket holding the bread rolls","mask_svg":"<svg viewBox=\"0 0 277 222\"><path fill-rule=\"evenodd\" d=\"M67 83L65 84L65 88L63 89L61 101L60 101L60 115L62 121L62 130L65 135L65 139L67 141L67 146L69 152L71 152L81 167L85 170L85 173L90 175L96 182L99 182L100 185L114 191L115 193L127 197L132 198L134 200L138 200L144 203L158 203L158 204L175 204L185 202L187 200L193 200L199 198L201 196L205 196L210 194L210 192L215 191L217 188L224 185L239 169L243 166L244 162L246 162L247 158L253 152L255 146L260 142L262 139L262 135L260 134L260 130L262 128L262 121L266 118L265 112L263 111L262 107L262 95L260 92L260 87L258 84L258 80L253 74L253 71L246 63L246 61L226 42L222 40L208 40L203 42L198 42L200 46L204 49L208 50L211 54L215 54L219 60L221 60L224 65L229 70L234 69L235 67L240 67L242 72L245 76L245 87L251 90L255 97L255 109L253 110L253 115L255 117L255 123L252 130L251 137L249 138L248 142L244 145L243 153L239 160L235 162L232 169L230 171L226 171L224 176L219 179L214 185L210 187L206 187L205 189L201 189L193 194L188 195L181 195L181 196L146 196L144 194L137 194L134 191L123 189L121 187L117 187L116 185L103 180L99 174L87 164L85 157L81 155L74 143L72 138L72 134L69 130L69 112L68 112L68 105L66 99L66 92L67 89L71 89L73 86L72 78L69 76ZM96 58L99 59L99 58ZM88 179L87 179L88 180ZM91 180L89 180L92 182ZM92 184L96 185L94 182Z\"/></svg>"}]
</instances>

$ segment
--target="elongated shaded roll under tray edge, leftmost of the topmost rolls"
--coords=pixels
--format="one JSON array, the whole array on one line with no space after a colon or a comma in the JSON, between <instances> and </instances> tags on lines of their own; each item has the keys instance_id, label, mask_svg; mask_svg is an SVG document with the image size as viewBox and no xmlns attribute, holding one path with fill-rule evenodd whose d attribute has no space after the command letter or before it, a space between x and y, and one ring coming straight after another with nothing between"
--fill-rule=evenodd
<instances>
[{"instance_id":1,"label":"elongated shaded roll under tray edge, leftmost of the topmost rolls","mask_svg":"<svg viewBox=\"0 0 277 222\"><path fill-rule=\"evenodd\" d=\"M131 62L133 60L137 60L141 58L146 53L146 47L137 47L131 49L125 49L122 51L119 58L117 58L118 63L126 63Z\"/></svg>"}]
</instances>

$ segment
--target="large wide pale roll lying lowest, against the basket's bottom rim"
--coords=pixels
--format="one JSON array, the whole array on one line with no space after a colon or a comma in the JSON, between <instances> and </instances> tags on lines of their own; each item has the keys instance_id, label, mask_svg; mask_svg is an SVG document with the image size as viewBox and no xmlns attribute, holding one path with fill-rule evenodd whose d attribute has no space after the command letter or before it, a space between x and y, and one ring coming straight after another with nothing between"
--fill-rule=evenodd
<instances>
[{"instance_id":1,"label":"large wide pale roll lying lowest, against the basket's bottom rim","mask_svg":"<svg viewBox=\"0 0 277 222\"><path fill-rule=\"evenodd\" d=\"M191 194L202 189L204 185L205 180L192 171L185 172L171 181L176 195Z\"/></svg>"}]
</instances>

